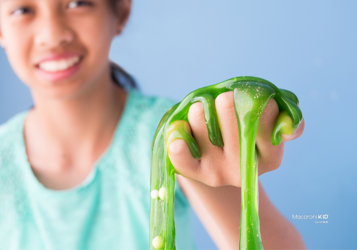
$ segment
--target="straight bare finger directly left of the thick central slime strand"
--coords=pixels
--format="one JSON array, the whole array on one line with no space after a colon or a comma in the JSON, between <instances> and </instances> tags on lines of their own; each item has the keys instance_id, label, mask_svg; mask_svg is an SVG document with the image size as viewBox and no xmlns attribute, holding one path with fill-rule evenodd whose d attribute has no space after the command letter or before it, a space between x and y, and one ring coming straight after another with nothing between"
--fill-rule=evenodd
<instances>
[{"instance_id":1,"label":"straight bare finger directly left of the thick central slime strand","mask_svg":"<svg viewBox=\"0 0 357 250\"><path fill-rule=\"evenodd\" d=\"M239 155L239 132L233 98L233 91L218 95L216 110L224 142L223 150L228 155Z\"/></svg>"}]
</instances>

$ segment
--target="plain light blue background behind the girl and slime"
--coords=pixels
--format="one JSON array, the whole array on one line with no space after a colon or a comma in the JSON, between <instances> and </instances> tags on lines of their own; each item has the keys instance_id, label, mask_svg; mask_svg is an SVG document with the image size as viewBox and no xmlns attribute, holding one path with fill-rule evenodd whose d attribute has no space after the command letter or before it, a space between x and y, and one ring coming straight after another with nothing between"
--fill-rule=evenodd
<instances>
[{"instance_id":1,"label":"plain light blue background behind the girl and slime","mask_svg":"<svg viewBox=\"0 0 357 250\"><path fill-rule=\"evenodd\" d=\"M260 177L309 249L356 249L357 1L134 0L110 53L149 95L257 76L299 97L303 136ZM31 105L0 52L0 123ZM328 224L292 215L328 214ZM195 220L200 249L215 249Z\"/></svg>"}]
</instances>

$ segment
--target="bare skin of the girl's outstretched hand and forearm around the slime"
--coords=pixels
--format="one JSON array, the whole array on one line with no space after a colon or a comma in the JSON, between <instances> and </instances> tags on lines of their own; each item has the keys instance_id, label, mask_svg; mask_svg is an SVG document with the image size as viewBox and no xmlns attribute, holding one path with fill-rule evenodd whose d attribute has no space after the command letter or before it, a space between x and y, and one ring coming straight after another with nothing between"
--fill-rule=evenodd
<instances>
[{"instance_id":1,"label":"bare skin of the girl's outstretched hand and forearm around the slime","mask_svg":"<svg viewBox=\"0 0 357 250\"><path fill-rule=\"evenodd\" d=\"M238 249L240 233L241 182L239 161L239 136L233 103L233 92L216 98L218 120L224 142L223 147L213 146L208 138L201 102L192 104L188 112L192 135L202 152L196 160L185 141L177 139L169 145L169 156L176 175L193 210L202 221L213 241L220 249ZM270 99L261 116L256 145L259 151L258 175L277 169L283 159L284 142L271 143L271 134L279 115L274 99ZM304 121L292 136L299 137ZM238 160L237 160L238 159ZM185 176L185 177L183 177ZM259 183L260 232L264 249L305 249L298 231L270 202Z\"/></svg>"}]
</instances>

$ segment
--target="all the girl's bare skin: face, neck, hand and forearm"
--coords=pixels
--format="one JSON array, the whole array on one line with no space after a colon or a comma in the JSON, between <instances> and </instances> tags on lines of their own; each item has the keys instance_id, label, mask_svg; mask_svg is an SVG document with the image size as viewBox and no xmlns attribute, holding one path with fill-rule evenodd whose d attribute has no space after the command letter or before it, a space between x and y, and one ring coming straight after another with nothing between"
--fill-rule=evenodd
<instances>
[{"instance_id":1,"label":"all the girl's bare skin: face, neck, hand and forearm","mask_svg":"<svg viewBox=\"0 0 357 250\"><path fill-rule=\"evenodd\" d=\"M47 188L80 184L109 146L126 101L126 92L110 78L108 54L129 16L131 1L122 0L117 14L107 1L69 8L70 0L0 0L0 44L20 79L30 87L34 108L25 121L28 160ZM29 7L29 13L14 10ZM18 12L16 12L18 13ZM79 69L61 80L48 80L37 70L40 60L60 53L81 56ZM219 248L238 249L240 166L237 120L232 92L216 99L224 147L208 139L202 104L190 108L188 120L202 158L192 157L183 140L169 145L169 156L181 175L177 181ZM278 116L271 99L262 114L257 147L259 175L277 169L284 143L272 146ZM292 136L299 137L304 121ZM185 177L183 177L185 176ZM265 249L304 249L296 229L271 204L259 186L261 235Z\"/></svg>"}]
</instances>

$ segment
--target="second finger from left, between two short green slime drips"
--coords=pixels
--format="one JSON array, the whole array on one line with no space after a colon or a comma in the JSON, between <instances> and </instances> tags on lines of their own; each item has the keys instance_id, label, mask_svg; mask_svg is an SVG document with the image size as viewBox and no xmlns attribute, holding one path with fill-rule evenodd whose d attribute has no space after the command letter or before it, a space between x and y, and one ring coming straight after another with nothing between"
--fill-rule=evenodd
<instances>
[{"instance_id":1,"label":"second finger from left, between two short green slime drips","mask_svg":"<svg viewBox=\"0 0 357 250\"><path fill-rule=\"evenodd\" d=\"M191 105L187 117L192 130L192 136L202 152L202 157L207 154L212 155L212 153L222 151L220 147L214 146L208 137L207 125L201 102L195 102Z\"/></svg>"}]
</instances>

